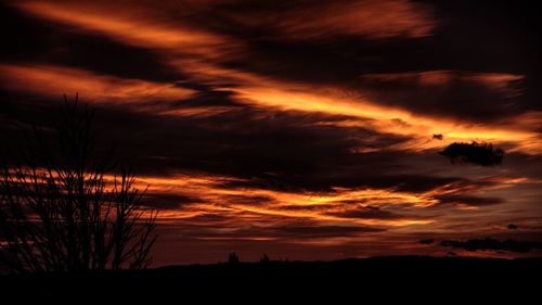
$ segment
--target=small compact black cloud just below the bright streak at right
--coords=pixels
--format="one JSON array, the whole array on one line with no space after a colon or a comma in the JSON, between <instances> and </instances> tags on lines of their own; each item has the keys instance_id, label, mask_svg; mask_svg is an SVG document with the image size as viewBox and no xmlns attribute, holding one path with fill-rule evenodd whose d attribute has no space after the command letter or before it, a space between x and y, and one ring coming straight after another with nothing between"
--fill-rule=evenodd
<instances>
[{"instance_id":1,"label":"small compact black cloud just below the bright streak at right","mask_svg":"<svg viewBox=\"0 0 542 305\"><path fill-rule=\"evenodd\" d=\"M452 143L448 145L441 155L449 157L452 163L469 163L481 166L493 166L502 163L504 151L493 149L488 143Z\"/></svg>"}]
</instances>

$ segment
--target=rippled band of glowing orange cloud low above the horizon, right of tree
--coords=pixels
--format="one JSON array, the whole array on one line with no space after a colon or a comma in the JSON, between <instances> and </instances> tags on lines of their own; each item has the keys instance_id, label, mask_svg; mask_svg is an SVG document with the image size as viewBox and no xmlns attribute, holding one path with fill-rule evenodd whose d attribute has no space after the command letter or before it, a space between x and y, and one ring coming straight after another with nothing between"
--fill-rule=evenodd
<instances>
[{"instance_id":1,"label":"rippled band of glowing orange cloud low above the horizon, right of tree","mask_svg":"<svg viewBox=\"0 0 542 305\"><path fill-rule=\"evenodd\" d=\"M292 193L231 185L242 181L247 182L245 179L225 176L185 173L171 177L141 177L138 186L144 188L150 183L150 194L157 194L157 200L159 195L192 198L192 202L177 208L163 209L159 214L159 221L163 224L206 228L211 236L202 238L210 240L272 240L281 238L273 236L273 228L295 227L304 221L311 224L314 230L326 226L371 226L376 233L382 229L396 233L424 230L448 232L448 226L454 221L446 216L436 217L435 211L446 208L450 212L453 208L454 213L476 213L478 207L468 202L468 196L462 198L461 194L511 188L525 179L488 177L488 181L494 181L495 185L455 181L417 193L393 188L333 188L328 192ZM450 198L451 201L444 204L440 198ZM268 230L268 234L263 234L262 229ZM322 245L340 244L346 240L369 238L371 234L366 231L344 237L330 234L313 239L313 242L318 241ZM293 238L297 242L298 239Z\"/></svg>"}]
</instances>

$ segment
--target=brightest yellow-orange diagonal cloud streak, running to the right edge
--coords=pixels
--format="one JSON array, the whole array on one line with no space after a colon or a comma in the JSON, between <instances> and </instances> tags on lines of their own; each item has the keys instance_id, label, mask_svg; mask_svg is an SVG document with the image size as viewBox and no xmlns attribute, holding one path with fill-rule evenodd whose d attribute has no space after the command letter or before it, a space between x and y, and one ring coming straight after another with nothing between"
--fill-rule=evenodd
<instances>
[{"instance_id":1,"label":"brightest yellow-orange diagonal cloud streak, running to the right edge","mask_svg":"<svg viewBox=\"0 0 542 305\"><path fill-rule=\"evenodd\" d=\"M345 127L361 126L412 138L411 141L392 148L398 150L440 149L442 142L431 141L430 137L434 134L442 134L446 142L488 141L512 144L511 151L521 150L527 154L542 152L542 139L534 131L415 114L398 107L379 105L377 101L363 97L363 93L353 97L346 94L339 88L326 90L310 86L296 88L292 85L282 85L272 88L246 87L232 90L237 92L241 99L267 107L365 118L362 122L349 119L333 124Z\"/></svg>"}]
</instances>

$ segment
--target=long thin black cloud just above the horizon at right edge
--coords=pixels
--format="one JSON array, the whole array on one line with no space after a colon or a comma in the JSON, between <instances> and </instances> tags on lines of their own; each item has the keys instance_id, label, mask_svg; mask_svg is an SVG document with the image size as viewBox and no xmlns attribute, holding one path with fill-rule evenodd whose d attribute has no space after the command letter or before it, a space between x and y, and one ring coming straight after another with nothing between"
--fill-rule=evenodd
<instances>
[{"instance_id":1,"label":"long thin black cloud just above the horizon at right edge","mask_svg":"<svg viewBox=\"0 0 542 305\"><path fill-rule=\"evenodd\" d=\"M527 253L533 250L542 250L542 242L517 241L517 240L499 241L490 238L472 239L467 241L444 240L440 243L440 245L463 249L470 252L508 251L517 253Z\"/></svg>"}]
</instances>

